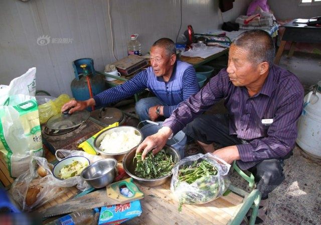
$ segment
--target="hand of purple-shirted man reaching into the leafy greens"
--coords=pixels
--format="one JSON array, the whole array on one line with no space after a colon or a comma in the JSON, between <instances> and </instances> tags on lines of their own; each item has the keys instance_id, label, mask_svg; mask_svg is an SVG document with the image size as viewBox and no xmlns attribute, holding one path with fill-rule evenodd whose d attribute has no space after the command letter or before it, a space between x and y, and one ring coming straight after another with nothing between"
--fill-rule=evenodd
<instances>
[{"instance_id":1,"label":"hand of purple-shirted man reaching into the leafy greens","mask_svg":"<svg viewBox=\"0 0 321 225\"><path fill-rule=\"evenodd\" d=\"M136 153L142 152L141 158L145 159L148 152L155 155L165 146L168 138L173 134L169 127L163 127L154 135L148 136L137 148Z\"/></svg>"}]
</instances>

